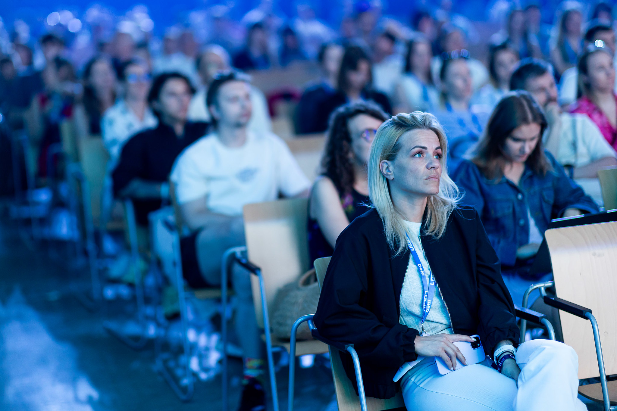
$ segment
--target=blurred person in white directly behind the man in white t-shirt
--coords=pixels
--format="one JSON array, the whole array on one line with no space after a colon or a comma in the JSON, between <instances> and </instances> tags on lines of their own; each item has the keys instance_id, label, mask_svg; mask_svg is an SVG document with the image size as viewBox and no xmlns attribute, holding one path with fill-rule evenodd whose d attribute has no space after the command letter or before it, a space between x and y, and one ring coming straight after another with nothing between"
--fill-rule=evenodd
<instances>
[{"instance_id":1,"label":"blurred person in white directly behind the man in white t-shirt","mask_svg":"<svg viewBox=\"0 0 617 411\"><path fill-rule=\"evenodd\" d=\"M201 78L201 85L197 89L195 96L189 105L189 120L212 121L212 116L205 105L205 97L208 94L208 87L218 71L230 70L230 55L217 44L205 46L204 51L197 56L196 67ZM268 113L268 103L263 92L251 85L251 105L252 114L248 127L254 132L267 132L272 129L270 114Z\"/></svg>"}]
</instances>

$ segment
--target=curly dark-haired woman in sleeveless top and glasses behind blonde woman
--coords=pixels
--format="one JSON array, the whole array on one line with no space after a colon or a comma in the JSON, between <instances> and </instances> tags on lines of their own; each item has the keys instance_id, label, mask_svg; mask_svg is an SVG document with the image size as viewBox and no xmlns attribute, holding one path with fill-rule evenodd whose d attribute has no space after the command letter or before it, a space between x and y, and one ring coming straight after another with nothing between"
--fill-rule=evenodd
<instances>
[{"instance_id":1,"label":"curly dark-haired woman in sleeveless top and glasses behind blonde woman","mask_svg":"<svg viewBox=\"0 0 617 411\"><path fill-rule=\"evenodd\" d=\"M371 142L387 115L371 103L337 108L328 129L321 159L323 173L317 177L309 203L309 257L332 255L341 231L368 208L366 162Z\"/></svg>"}]
</instances>

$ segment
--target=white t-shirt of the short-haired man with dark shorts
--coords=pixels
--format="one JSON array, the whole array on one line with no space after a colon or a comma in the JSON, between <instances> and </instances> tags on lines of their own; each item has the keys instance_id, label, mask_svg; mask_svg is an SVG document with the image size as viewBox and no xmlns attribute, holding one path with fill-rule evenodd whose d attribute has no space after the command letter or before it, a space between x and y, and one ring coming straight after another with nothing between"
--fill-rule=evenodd
<instances>
[{"instance_id":1,"label":"white t-shirt of the short-haired man with dark shorts","mask_svg":"<svg viewBox=\"0 0 617 411\"><path fill-rule=\"evenodd\" d=\"M187 147L173 167L179 204L206 198L213 213L242 215L242 206L293 197L310 187L287 145L270 132L247 132L242 147L223 145L216 133Z\"/></svg>"}]
</instances>

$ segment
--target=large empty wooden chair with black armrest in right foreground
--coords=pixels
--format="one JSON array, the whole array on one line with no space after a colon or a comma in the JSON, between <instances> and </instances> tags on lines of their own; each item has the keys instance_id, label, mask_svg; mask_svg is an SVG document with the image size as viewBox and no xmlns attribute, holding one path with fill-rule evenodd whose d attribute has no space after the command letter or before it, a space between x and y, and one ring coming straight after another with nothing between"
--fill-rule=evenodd
<instances>
[{"instance_id":1,"label":"large empty wooden chair with black armrest in right foreground","mask_svg":"<svg viewBox=\"0 0 617 411\"><path fill-rule=\"evenodd\" d=\"M580 386L579 393L603 402L605 411L617 410L617 381L607 382L607 375L617 374L617 222L549 229L545 237L558 297L542 297L565 312L563 341L578 354L579 379L600 376L600 383ZM581 319L591 322L593 340L581 332Z\"/></svg>"}]
</instances>

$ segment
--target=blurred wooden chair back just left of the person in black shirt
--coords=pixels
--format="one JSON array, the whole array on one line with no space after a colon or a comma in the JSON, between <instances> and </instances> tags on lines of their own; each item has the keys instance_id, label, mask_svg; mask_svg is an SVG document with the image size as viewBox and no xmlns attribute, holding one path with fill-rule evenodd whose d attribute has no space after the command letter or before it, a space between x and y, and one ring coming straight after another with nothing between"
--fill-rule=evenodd
<instances>
[{"instance_id":1,"label":"blurred wooden chair back just left of the person in black shirt","mask_svg":"<svg viewBox=\"0 0 617 411\"><path fill-rule=\"evenodd\" d=\"M90 198L94 226L101 222L101 195L107 173L109 153L101 137L81 139L78 145L81 169L90 185Z\"/></svg>"}]
</instances>

